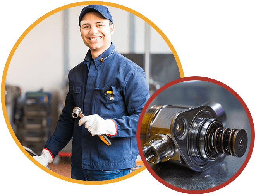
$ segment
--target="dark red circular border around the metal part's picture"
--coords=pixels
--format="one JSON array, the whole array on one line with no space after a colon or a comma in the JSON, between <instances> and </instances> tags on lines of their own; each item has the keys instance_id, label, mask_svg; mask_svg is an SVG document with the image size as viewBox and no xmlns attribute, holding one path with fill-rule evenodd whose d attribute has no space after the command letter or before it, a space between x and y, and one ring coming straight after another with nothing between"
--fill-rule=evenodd
<instances>
[{"instance_id":1,"label":"dark red circular border around the metal part's picture","mask_svg":"<svg viewBox=\"0 0 256 195\"><path fill-rule=\"evenodd\" d=\"M158 96L158 94L160 94L162 91L164 91L165 89L167 89L168 87L177 84L179 82L184 82L184 81L193 81L193 80L197 80L197 81L208 81L214 84L217 84L225 89L227 89L230 93L232 93L237 99L238 101L242 104L244 110L246 111L247 117L249 119L249 123L250 123L250 127L251 127L251 144L249 147L249 152L248 155L246 156L246 160L244 161L244 163L242 164L241 168L237 171L237 173L235 173L235 175L233 175L229 180L227 180L226 182L213 187L213 188L209 188L206 190L184 190L178 187L175 187L167 182L165 182L164 180L162 180L160 177L158 177L158 175L156 175L156 173L150 168L149 164L147 163L146 159L144 158L143 152L142 152L142 148L141 148L141 141L140 141L140 133L141 133L141 123L142 123L142 119L144 114L146 113L146 110L149 106L149 104L153 101L153 99L155 99L156 96ZM137 125L137 145L138 145L138 149L139 149L139 154L141 155L141 159L144 163L144 165L146 166L147 170L149 171L149 173L156 179L158 180L158 182L162 183L164 186L175 190L177 192L181 192L181 193L188 193L188 194L203 194L203 193L210 193L210 192L214 192L216 190L220 190L221 188L229 185L231 182L233 182L244 170L244 168L246 167L246 165L248 164L251 155L253 153L253 146L254 146L254 141L255 141L255 131L254 131L254 124L253 124L253 118L251 116L251 113L249 111L249 108L247 107L246 103L244 102L244 100L242 99L242 97L239 96L239 94L237 94L237 92L235 92L231 87L227 86L226 84L217 81L215 79L211 79L211 78L207 78L207 77L198 77L198 76L191 76L191 77L184 77L181 79L177 79L175 81L169 82L168 84L166 84L165 86L161 87L160 89L158 89L147 101L147 103L145 104L143 110L141 111L141 115L139 117L139 121L138 121L138 125Z\"/></svg>"}]
</instances>

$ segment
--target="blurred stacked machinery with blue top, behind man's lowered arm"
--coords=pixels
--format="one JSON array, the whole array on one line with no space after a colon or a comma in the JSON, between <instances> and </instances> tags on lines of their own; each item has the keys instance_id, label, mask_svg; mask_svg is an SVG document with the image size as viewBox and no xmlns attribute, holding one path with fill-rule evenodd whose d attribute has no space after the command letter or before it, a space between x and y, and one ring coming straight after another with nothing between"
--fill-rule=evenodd
<instances>
[{"instance_id":1,"label":"blurred stacked machinery with blue top, behind man's lowered arm","mask_svg":"<svg viewBox=\"0 0 256 195\"><path fill-rule=\"evenodd\" d=\"M27 92L24 98L21 143L40 153L51 133L51 94Z\"/></svg>"}]
</instances>

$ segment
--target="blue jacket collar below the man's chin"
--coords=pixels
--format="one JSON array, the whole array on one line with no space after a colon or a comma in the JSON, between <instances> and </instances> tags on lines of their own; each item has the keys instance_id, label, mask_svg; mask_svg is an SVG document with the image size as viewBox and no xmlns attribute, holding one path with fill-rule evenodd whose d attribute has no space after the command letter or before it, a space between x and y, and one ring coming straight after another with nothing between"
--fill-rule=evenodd
<instances>
[{"instance_id":1,"label":"blue jacket collar below the man's chin","mask_svg":"<svg viewBox=\"0 0 256 195\"><path fill-rule=\"evenodd\" d=\"M115 51L115 45L111 42L110 47L108 47L107 50L105 50L105 52L103 52L102 54L100 54L98 57L96 57L94 59L94 64L96 69L98 70L99 67L101 66L101 64L108 59L108 57L110 57L113 52ZM89 50L84 58L84 64L87 65L88 69L89 69L89 64L91 64L91 61L93 61L92 57L91 57L91 50Z\"/></svg>"}]
</instances>

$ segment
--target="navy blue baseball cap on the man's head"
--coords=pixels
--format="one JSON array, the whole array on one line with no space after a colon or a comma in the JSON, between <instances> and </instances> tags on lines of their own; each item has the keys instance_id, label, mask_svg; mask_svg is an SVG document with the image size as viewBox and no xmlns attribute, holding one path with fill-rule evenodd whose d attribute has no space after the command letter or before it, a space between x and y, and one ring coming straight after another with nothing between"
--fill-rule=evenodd
<instances>
[{"instance_id":1,"label":"navy blue baseball cap on the man's head","mask_svg":"<svg viewBox=\"0 0 256 195\"><path fill-rule=\"evenodd\" d=\"M110 20L113 23L112 16L111 16L110 12L108 11L107 7L105 7L103 5L88 5L88 6L84 7L80 13L79 26L80 26L82 17L88 12L99 12L99 13L101 13L101 15L103 15L104 18Z\"/></svg>"}]
</instances>

